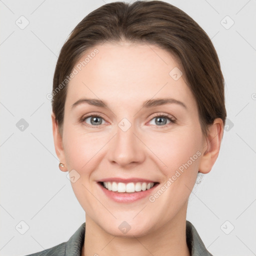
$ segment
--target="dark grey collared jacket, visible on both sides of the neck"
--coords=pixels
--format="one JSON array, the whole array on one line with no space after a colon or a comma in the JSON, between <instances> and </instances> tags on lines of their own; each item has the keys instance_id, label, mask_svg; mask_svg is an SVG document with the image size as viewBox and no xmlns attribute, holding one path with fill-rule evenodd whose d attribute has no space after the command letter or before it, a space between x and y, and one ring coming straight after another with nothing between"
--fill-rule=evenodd
<instances>
[{"instance_id":1,"label":"dark grey collared jacket, visible on both sides of the neck","mask_svg":"<svg viewBox=\"0 0 256 256\"><path fill-rule=\"evenodd\" d=\"M84 234L85 222L81 224L68 241L26 256L80 256ZM191 256L213 256L207 251L199 234L188 220L186 220L186 243Z\"/></svg>"}]
</instances>

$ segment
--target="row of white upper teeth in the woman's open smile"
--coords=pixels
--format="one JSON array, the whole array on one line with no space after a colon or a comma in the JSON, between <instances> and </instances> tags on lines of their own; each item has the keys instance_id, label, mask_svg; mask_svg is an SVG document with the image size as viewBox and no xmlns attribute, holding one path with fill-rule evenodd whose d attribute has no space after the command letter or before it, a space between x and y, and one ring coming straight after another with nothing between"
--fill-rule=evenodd
<instances>
[{"instance_id":1,"label":"row of white upper teeth in the woman's open smile","mask_svg":"<svg viewBox=\"0 0 256 256\"><path fill-rule=\"evenodd\" d=\"M123 183L123 182L103 182L103 186L107 188L109 191L117 191L119 193L133 193L133 192L139 192L139 191L145 191L147 189L150 189L154 185L154 182L129 182L129 183Z\"/></svg>"}]
</instances>

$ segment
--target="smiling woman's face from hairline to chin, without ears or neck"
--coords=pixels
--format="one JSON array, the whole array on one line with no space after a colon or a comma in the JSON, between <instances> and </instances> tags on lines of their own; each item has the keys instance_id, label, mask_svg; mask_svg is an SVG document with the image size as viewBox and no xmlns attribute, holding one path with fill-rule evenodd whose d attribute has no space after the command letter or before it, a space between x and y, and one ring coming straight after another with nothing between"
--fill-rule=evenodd
<instances>
[{"instance_id":1,"label":"smiling woman's face from hairline to chin, without ears or neck","mask_svg":"<svg viewBox=\"0 0 256 256\"><path fill-rule=\"evenodd\" d=\"M95 48L68 84L61 160L78 177L86 219L112 235L144 235L185 216L206 150L196 102L177 59L156 45Z\"/></svg>"}]
</instances>

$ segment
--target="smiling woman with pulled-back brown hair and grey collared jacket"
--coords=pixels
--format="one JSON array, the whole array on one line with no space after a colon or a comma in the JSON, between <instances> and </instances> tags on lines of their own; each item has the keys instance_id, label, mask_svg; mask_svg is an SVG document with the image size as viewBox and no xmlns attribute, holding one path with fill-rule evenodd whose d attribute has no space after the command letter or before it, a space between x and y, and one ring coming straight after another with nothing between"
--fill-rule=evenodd
<instances>
[{"instance_id":1,"label":"smiling woman with pulled-back brown hair and grey collared jacket","mask_svg":"<svg viewBox=\"0 0 256 256\"><path fill-rule=\"evenodd\" d=\"M193 19L162 1L99 7L63 45L52 97L59 168L86 228L31 255L212 255L186 210L218 156L224 81Z\"/></svg>"}]
</instances>

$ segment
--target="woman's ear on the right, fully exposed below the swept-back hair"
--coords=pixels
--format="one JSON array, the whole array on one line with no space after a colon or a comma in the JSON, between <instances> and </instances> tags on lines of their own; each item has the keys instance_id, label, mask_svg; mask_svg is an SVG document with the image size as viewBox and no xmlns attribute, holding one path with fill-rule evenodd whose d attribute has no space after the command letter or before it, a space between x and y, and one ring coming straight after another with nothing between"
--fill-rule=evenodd
<instances>
[{"instance_id":1,"label":"woman's ear on the right, fully exposed below the swept-back hair","mask_svg":"<svg viewBox=\"0 0 256 256\"><path fill-rule=\"evenodd\" d=\"M223 121L221 118L216 118L208 127L206 143L203 148L206 148L199 163L199 172L208 173L214 162L217 159L220 142L223 136Z\"/></svg>"}]
</instances>

